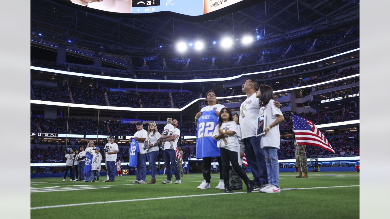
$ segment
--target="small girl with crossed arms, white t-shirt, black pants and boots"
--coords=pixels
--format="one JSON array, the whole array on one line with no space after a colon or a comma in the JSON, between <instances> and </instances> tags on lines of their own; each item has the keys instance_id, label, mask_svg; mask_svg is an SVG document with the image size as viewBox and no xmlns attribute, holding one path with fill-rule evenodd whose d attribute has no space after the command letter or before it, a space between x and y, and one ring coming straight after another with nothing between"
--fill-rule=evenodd
<instances>
[{"instance_id":1,"label":"small girl with crossed arms, white t-shirt, black pants and boots","mask_svg":"<svg viewBox=\"0 0 390 219\"><path fill-rule=\"evenodd\" d=\"M233 121L232 112L229 108L222 108L219 115L218 125L213 132L213 138L218 141L217 145L220 148L222 167L223 167L223 183L225 184L225 192L232 193L229 185L229 162L232 163L232 168L243 178L246 184L246 192L253 191L253 182L249 180L241 166L238 164L238 138L237 124ZM220 165L221 166L221 165Z\"/></svg>"}]
</instances>

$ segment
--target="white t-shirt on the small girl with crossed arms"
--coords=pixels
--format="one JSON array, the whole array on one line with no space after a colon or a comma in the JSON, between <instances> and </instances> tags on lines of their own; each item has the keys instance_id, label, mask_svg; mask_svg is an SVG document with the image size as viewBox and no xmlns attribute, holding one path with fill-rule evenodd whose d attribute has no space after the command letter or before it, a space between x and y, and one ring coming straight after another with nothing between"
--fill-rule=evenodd
<instances>
[{"instance_id":1,"label":"white t-shirt on the small girl with crossed arms","mask_svg":"<svg viewBox=\"0 0 390 219\"><path fill-rule=\"evenodd\" d=\"M236 134L234 134L232 136L227 135L227 138L221 138L220 140L218 140L217 146L219 148L225 148L227 150L237 151L237 145L239 143L238 143L238 138L237 138L237 124L236 124L236 122L234 122L234 121L224 122L224 123L222 123L221 127L218 127L218 125L217 125L214 129L213 136L212 136L212 138L214 138L214 139L215 139L215 136L217 136L219 134L218 128L220 128L222 130L225 129L226 131L234 131L234 132L236 132ZM226 140L226 142L224 140Z\"/></svg>"}]
</instances>

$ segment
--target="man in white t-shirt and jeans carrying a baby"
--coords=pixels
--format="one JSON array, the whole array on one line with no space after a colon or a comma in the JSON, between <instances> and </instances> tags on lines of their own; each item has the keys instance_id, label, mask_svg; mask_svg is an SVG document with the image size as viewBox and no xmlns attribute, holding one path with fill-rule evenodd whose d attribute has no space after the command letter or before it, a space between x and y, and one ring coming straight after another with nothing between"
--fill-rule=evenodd
<instances>
[{"instance_id":1,"label":"man in white t-shirt and jeans carrying a baby","mask_svg":"<svg viewBox=\"0 0 390 219\"><path fill-rule=\"evenodd\" d=\"M181 179L179 175L179 168L177 167L176 163L176 147L177 147L177 141L179 140L180 136L180 129L177 128L179 125L179 122L174 119L172 120L172 125L174 126L174 132L169 137L166 134L161 134L161 139L163 141L163 149L164 149L164 162L165 167L167 168L167 180L163 181L163 184L171 184L172 183L172 171L171 171L171 165L173 167L176 182L175 184L180 184ZM174 141L174 150L171 149L170 141Z\"/></svg>"}]
</instances>

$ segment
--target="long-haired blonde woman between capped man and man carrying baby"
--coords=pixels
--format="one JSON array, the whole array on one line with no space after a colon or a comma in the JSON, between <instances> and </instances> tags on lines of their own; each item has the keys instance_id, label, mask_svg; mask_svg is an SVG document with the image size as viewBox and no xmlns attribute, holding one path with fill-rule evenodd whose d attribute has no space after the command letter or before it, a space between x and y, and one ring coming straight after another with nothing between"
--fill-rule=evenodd
<instances>
[{"instance_id":1,"label":"long-haired blonde woman between capped man and man carrying baby","mask_svg":"<svg viewBox=\"0 0 390 219\"><path fill-rule=\"evenodd\" d=\"M152 178L147 184L156 183L156 160L160 149L157 145L157 140L161 137L161 134L158 132L157 125L155 122L149 123L149 128L147 129L146 140L149 140L149 149L147 150L147 160L151 166Z\"/></svg>"}]
</instances>

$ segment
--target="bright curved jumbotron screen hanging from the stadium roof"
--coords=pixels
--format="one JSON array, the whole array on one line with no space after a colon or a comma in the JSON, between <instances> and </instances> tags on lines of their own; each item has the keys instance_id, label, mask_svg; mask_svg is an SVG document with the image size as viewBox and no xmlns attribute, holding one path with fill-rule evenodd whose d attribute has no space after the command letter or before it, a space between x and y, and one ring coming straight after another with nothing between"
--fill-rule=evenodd
<instances>
[{"instance_id":1,"label":"bright curved jumbotron screen hanging from the stadium roof","mask_svg":"<svg viewBox=\"0 0 390 219\"><path fill-rule=\"evenodd\" d=\"M217 11L243 0L66 0L74 4L108 12L145 14L175 12L199 16Z\"/></svg>"}]
</instances>

